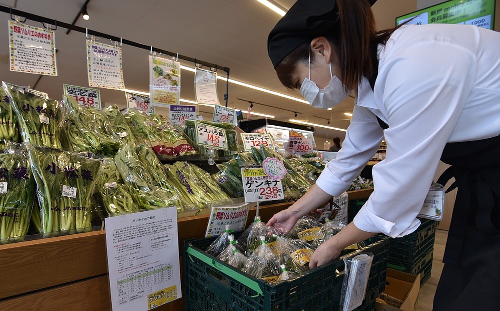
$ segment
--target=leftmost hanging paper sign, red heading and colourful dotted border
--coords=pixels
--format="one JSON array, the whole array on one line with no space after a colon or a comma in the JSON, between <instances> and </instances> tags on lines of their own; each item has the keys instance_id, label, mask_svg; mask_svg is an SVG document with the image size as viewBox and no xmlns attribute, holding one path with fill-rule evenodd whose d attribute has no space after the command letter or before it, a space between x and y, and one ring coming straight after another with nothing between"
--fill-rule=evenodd
<instances>
[{"instance_id":1,"label":"leftmost hanging paper sign, red heading and colourful dotted border","mask_svg":"<svg viewBox=\"0 0 500 311\"><path fill-rule=\"evenodd\" d=\"M10 71L57 76L54 32L8 21Z\"/></svg>"}]
</instances>

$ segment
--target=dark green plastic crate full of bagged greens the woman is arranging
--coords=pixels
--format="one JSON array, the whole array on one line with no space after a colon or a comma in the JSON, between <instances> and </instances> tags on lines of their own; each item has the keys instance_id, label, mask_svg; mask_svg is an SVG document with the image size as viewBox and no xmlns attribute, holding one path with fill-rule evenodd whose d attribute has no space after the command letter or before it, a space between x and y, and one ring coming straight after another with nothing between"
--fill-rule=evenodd
<instances>
[{"instance_id":1,"label":"dark green plastic crate full of bagged greens the woman is arranging","mask_svg":"<svg viewBox=\"0 0 500 311\"><path fill-rule=\"evenodd\" d=\"M237 238L239 234L241 232L234 235ZM343 270L343 260L332 261L309 270L297 279L269 285L205 253L203 250L214 239L212 237L184 242L183 297L186 311L338 309L343 273L337 274L336 270ZM361 251L374 254L363 305L371 304L371 298L374 301L379 294L375 295L374 292L383 291L388 253L387 237L375 236L367 242L368 246L343 256L355 256ZM375 283L376 286L371 288L370 284Z\"/></svg>"}]
</instances>

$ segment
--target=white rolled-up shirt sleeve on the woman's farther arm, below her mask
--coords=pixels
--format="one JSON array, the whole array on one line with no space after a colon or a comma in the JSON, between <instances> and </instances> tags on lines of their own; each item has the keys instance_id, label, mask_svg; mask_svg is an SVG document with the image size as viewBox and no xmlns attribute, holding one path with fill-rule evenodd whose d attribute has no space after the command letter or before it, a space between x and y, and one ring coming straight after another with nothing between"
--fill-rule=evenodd
<instances>
[{"instance_id":1,"label":"white rolled-up shirt sleeve on the woman's farther arm, below her mask","mask_svg":"<svg viewBox=\"0 0 500 311\"><path fill-rule=\"evenodd\" d=\"M332 196L344 192L378 150L382 138L382 129L373 113L354 105L342 148L336 158L326 164L316 185Z\"/></svg>"}]
</instances>

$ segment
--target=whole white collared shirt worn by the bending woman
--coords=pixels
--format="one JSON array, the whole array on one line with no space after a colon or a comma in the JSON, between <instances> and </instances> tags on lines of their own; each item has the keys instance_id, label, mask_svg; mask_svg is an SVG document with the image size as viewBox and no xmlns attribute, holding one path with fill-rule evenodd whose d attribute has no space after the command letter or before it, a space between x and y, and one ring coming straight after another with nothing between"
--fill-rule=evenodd
<instances>
[{"instance_id":1,"label":"whole white collared shirt worn by the bending woman","mask_svg":"<svg viewBox=\"0 0 500 311\"><path fill-rule=\"evenodd\" d=\"M375 189L354 224L400 237L420 224L444 145L500 134L500 33L410 25L378 52L374 91L366 79L359 85L342 148L316 184L333 196L345 191L384 138L386 158L373 166Z\"/></svg>"}]
</instances>

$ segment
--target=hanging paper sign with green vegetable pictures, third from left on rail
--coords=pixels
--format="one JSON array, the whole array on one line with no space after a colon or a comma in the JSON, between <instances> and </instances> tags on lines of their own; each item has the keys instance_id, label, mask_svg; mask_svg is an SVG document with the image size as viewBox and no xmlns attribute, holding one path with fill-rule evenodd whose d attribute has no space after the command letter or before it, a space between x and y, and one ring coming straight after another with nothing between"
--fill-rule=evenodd
<instances>
[{"instance_id":1,"label":"hanging paper sign with green vegetable pictures, third from left on rail","mask_svg":"<svg viewBox=\"0 0 500 311\"><path fill-rule=\"evenodd\" d=\"M178 105L180 63L150 55L149 94L154 106Z\"/></svg>"}]
</instances>

